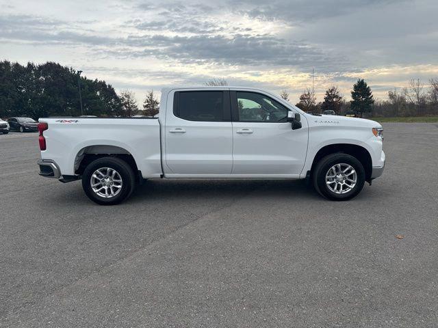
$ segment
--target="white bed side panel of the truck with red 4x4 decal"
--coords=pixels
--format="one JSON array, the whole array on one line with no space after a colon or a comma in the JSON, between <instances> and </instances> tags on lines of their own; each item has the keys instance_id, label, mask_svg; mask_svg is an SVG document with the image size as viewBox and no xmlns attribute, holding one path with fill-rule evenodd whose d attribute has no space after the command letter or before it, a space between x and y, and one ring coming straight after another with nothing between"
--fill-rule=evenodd
<instances>
[{"instance_id":1,"label":"white bed side panel of the truck with red 4x4 decal","mask_svg":"<svg viewBox=\"0 0 438 328\"><path fill-rule=\"evenodd\" d=\"M131 154L144 178L162 174L157 118L41 118L47 150L42 160L57 163L62 176L74 176L84 154Z\"/></svg>"}]
</instances>

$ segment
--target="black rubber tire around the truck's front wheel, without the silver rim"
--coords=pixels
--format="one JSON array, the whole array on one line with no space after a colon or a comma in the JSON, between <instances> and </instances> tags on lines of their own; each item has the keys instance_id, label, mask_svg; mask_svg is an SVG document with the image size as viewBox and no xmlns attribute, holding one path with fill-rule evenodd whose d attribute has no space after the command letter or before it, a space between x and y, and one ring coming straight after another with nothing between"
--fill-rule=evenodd
<instances>
[{"instance_id":1,"label":"black rubber tire around the truck's front wheel, without the silver rim","mask_svg":"<svg viewBox=\"0 0 438 328\"><path fill-rule=\"evenodd\" d=\"M337 194L327 187L326 173L333 165L338 163L351 165L355 168L357 173L357 183L348 193ZM313 178L315 189L329 200L350 200L361 192L363 185L365 184L365 169L363 169L362 163L354 156L348 154L331 154L320 160L315 168L315 175Z\"/></svg>"}]
</instances>

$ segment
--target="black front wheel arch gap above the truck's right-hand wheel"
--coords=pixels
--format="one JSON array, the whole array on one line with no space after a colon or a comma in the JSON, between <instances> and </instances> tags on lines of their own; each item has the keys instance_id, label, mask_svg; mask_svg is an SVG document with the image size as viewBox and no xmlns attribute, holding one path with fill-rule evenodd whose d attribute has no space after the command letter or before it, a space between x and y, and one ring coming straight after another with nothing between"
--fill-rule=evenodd
<instances>
[{"instance_id":1,"label":"black front wheel arch gap above the truck's right-hand wheel","mask_svg":"<svg viewBox=\"0 0 438 328\"><path fill-rule=\"evenodd\" d=\"M372 158L370 152L368 152L366 148L352 143L334 143L322 147L313 158L311 173L314 172L315 166L321 159L329 154L335 153L348 154L355 157L361 162L363 169L365 169L365 181L370 182L372 174Z\"/></svg>"}]
</instances>

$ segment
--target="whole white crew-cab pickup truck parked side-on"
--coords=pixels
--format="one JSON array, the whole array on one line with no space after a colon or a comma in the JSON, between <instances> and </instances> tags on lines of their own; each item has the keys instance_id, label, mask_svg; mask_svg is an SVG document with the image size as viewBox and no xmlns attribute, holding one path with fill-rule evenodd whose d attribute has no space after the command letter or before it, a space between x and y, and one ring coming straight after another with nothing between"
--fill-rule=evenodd
<instances>
[{"instance_id":1,"label":"whole white crew-cab pickup truck parked side-on","mask_svg":"<svg viewBox=\"0 0 438 328\"><path fill-rule=\"evenodd\" d=\"M82 179L98 204L141 179L305 179L330 200L355 197L383 173L383 129L310 115L249 87L162 90L159 118L42 118L40 175Z\"/></svg>"}]
</instances>

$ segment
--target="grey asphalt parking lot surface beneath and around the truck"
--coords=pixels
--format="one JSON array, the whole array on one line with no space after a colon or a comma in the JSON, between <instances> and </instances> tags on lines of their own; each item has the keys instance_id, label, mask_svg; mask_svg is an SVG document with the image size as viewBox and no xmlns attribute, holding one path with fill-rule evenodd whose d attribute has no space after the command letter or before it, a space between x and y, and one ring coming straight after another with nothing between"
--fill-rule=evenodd
<instances>
[{"instance_id":1,"label":"grey asphalt parking lot surface beneath and around the truck","mask_svg":"<svg viewBox=\"0 0 438 328\"><path fill-rule=\"evenodd\" d=\"M0 135L0 326L436 327L438 126L384 127L385 173L342 203L150 180L103 207Z\"/></svg>"}]
</instances>

